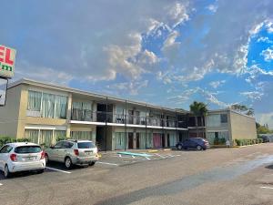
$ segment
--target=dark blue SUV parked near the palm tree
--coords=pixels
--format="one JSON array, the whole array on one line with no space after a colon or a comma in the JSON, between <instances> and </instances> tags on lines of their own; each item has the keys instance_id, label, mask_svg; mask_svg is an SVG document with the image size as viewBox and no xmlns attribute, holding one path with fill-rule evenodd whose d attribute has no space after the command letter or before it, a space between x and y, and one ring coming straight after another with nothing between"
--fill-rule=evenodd
<instances>
[{"instance_id":1,"label":"dark blue SUV parked near the palm tree","mask_svg":"<svg viewBox=\"0 0 273 205\"><path fill-rule=\"evenodd\" d=\"M209 148L209 144L205 138L187 138L181 142L177 142L176 147L177 149L206 150Z\"/></svg>"}]
</instances>

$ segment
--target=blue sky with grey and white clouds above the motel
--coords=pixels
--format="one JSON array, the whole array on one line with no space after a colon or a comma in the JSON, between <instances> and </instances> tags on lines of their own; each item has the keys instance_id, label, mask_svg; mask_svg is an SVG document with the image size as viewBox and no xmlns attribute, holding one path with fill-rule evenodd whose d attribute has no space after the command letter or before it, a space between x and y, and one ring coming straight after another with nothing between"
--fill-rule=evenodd
<instances>
[{"instance_id":1,"label":"blue sky with grey and white clouds above the motel","mask_svg":"<svg viewBox=\"0 0 273 205\"><path fill-rule=\"evenodd\" d=\"M240 103L273 128L271 0L0 0L15 77L188 109Z\"/></svg>"}]
</instances>

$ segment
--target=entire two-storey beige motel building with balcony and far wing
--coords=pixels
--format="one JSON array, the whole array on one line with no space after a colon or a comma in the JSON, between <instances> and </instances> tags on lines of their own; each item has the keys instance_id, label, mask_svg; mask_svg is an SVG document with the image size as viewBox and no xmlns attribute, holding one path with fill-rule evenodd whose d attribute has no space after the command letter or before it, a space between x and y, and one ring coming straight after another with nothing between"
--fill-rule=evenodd
<instances>
[{"instance_id":1,"label":"entire two-storey beige motel building with balcony and far wing","mask_svg":"<svg viewBox=\"0 0 273 205\"><path fill-rule=\"evenodd\" d=\"M10 84L0 108L0 136L46 146L58 138L88 138L108 150L174 147L188 137L257 138L255 118L229 109L209 111L197 124L186 110L29 79Z\"/></svg>"}]
</instances>

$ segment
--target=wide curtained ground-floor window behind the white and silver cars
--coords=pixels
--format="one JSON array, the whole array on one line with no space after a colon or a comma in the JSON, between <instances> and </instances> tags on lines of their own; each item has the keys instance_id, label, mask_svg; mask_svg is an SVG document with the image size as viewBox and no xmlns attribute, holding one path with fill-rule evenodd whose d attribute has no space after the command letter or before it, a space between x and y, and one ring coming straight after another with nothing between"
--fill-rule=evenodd
<instances>
[{"instance_id":1,"label":"wide curtained ground-floor window behind the white and silver cars","mask_svg":"<svg viewBox=\"0 0 273 205\"><path fill-rule=\"evenodd\" d=\"M25 129L25 138L28 138L30 142L50 147L59 139L66 138L66 130Z\"/></svg>"}]
</instances>

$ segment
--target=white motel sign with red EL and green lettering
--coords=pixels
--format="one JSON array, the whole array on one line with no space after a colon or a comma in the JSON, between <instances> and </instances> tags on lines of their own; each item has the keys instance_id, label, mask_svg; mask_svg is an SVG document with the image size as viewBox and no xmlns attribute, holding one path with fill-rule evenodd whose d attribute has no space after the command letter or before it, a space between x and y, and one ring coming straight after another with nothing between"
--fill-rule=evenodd
<instances>
[{"instance_id":1,"label":"white motel sign with red EL and green lettering","mask_svg":"<svg viewBox=\"0 0 273 205\"><path fill-rule=\"evenodd\" d=\"M15 49L0 45L0 77L14 77L15 55Z\"/></svg>"}]
</instances>

